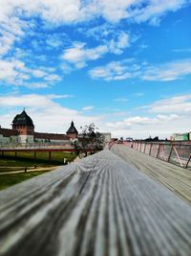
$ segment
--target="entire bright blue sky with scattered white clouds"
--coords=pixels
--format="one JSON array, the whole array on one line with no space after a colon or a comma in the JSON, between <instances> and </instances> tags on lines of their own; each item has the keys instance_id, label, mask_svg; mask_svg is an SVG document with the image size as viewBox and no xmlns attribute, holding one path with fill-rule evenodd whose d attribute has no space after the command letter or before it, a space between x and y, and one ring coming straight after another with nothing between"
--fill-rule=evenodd
<instances>
[{"instance_id":1,"label":"entire bright blue sky with scattered white clouds","mask_svg":"<svg viewBox=\"0 0 191 256\"><path fill-rule=\"evenodd\" d=\"M190 0L0 0L0 125L191 130Z\"/></svg>"}]
</instances>

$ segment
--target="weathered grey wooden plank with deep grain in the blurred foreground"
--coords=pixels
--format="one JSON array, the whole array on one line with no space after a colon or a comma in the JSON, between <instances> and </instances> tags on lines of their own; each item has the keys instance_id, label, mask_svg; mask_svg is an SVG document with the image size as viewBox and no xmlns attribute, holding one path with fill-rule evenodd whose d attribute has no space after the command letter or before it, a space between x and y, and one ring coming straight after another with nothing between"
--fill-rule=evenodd
<instances>
[{"instance_id":1,"label":"weathered grey wooden plank with deep grain in the blurred foreground","mask_svg":"<svg viewBox=\"0 0 191 256\"><path fill-rule=\"evenodd\" d=\"M0 193L2 256L190 256L191 207L111 151Z\"/></svg>"}]
</instances>

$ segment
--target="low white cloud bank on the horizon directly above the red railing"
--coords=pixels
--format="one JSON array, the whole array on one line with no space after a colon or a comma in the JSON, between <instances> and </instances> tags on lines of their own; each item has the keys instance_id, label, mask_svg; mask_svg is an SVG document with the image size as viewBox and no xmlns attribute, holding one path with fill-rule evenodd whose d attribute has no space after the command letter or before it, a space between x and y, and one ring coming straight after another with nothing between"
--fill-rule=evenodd
<instances>
[{"instance_id":1,"label":"low white cloud bank on the horizon directly above the red railing","mask_svg":"<svg viewBox=\"0 0 191 256\"><path fill-rule=\"evenodd\" d=\"M150 117L131 116L118 122L106 124L107 130L112 131L113 136L124 138L145 139L149 136L159 136L160 139L170 138L174 132L188 132L190 130L191 116L187 115L157 115Z\"/></svg>"}]
</instances>

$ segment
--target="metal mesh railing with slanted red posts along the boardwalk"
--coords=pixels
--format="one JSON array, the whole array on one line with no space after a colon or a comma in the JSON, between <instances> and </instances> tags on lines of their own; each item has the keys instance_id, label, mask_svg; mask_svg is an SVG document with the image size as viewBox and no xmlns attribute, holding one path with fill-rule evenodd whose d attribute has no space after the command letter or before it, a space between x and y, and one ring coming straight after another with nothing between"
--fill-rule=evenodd
<instances>
[{"instance_id":1,"label":"metal mesh railing with slanted red posts along the boardwalk","mask_svg":"<svg viewBox=\"0 0 191 256\"><path fill-rule=\"evenodd\" d=\"M136 151L156 157L160 160L191 169L191 143L187 142L123 142Z\"/></svg>"}]
</instances>

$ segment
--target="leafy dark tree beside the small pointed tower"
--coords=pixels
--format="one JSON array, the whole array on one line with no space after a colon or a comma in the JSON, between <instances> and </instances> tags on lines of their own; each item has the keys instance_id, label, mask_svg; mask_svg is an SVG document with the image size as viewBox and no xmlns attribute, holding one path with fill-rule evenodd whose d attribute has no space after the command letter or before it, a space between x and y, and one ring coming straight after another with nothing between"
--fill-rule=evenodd
<instances>
[{"instance_id":1,"label":"leafy dark tree beside the small pointed tower","mask_svg":"<svg viewBox=\"0 0 191 256\"><path fill-rule=\"evenodd\" d=\"M103 149L103 136L98 132L95 124L92 123L89 126L81 127L78 141L74 141L73 146L77 154L81 151L85 152L87 156L88 151L93 153Z\"/></svg>"}]
</instances>

